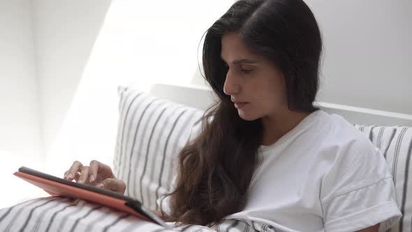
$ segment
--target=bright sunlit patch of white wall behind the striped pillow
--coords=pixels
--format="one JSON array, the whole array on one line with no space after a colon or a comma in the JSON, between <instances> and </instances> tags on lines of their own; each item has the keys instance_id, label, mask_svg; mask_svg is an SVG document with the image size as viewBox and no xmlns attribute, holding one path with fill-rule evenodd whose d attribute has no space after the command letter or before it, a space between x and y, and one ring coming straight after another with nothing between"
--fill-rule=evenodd
<instances>
[{"instance_id":1,"label":"bright sunlit patch of white wall behind the striped pillow","mask_svg":"<svg viewBox=\"0 0 412 232\"><path fill-rule=\"evenodd\" d=\"M117 86L147 91L155 82L189 84L198 75L203 34L232 3L113 1L47 154L47 172L63 175L74 160L112 165Z\"/></svg>"}]
</instances>

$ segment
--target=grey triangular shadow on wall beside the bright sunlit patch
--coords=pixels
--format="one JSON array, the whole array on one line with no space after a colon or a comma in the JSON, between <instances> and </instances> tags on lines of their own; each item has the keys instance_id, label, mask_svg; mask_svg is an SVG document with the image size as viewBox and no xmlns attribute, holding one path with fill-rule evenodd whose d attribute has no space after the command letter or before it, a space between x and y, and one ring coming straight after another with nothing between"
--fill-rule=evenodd
<instances>
[{"instance_id":1,"label":"grey triangular shadow on wall beside the bright sunlit patch","mask_svg":"<svg viewBox=\"0 0 412 232\"><path fill-rule=\"evenodd\" d=\"M34 40L45 154L61 130L111 0L35 0Z\"/></svg>"}]
</instances>

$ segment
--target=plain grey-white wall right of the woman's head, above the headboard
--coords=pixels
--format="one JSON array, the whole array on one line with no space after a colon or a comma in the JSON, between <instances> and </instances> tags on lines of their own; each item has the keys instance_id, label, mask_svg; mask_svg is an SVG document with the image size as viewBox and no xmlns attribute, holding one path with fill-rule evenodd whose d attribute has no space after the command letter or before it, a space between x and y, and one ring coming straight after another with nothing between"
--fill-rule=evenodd
<instances>
[{"instance_id":1,"label":"plain grey-white wall right of the woman's head, above the headboard","mask_svg":"<svg viewBox=\"0 0 412 232\"><path fill-rule=\"evenodd\" d=\"M412 1L306 2L323 31L319 99L412 115Z\"/></svg>"}]
</instances>

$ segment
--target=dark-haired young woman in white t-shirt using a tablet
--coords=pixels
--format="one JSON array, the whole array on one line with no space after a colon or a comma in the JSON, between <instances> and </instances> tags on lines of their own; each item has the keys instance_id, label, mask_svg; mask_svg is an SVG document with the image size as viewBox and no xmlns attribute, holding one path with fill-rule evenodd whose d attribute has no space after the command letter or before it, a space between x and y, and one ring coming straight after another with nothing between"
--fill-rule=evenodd
<instances>
[{"instance_id":1,"label":"dark-haired young woman in white t-shirt using a tablet","mask_svg":"<svg viewBox=\"0 0 412 232\"><path fill-rule=\"evenodd\" d=\"M313 105L321 50L302 0L240 0L208 29L203 68L220 101L179 154L164 219L249 219L282 231L378 231L399 219L383 155ZM65 177L126 188L98 161L76 161Z\"/></svg>"}]
</instances>

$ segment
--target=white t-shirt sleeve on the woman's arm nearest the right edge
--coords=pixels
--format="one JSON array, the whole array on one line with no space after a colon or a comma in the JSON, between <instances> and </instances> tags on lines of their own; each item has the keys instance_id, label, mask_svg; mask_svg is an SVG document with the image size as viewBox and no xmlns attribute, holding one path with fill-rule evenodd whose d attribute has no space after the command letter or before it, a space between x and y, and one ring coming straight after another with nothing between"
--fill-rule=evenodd
<instances>
[{"instance_id":1,"label":"white t-shirt sleeve on the woman's arm nearest the right edge","mask_svg":"<svg viewBox=\"0 0 412 232\"><path fill-rule=\"evenodd\" d=\"M367 142L339 147L323 176L321 203L327 232L358 231L376 224L385 231L402 216L388 164Z\"/></svg>"}]
</instances>

